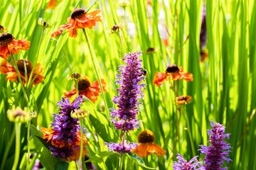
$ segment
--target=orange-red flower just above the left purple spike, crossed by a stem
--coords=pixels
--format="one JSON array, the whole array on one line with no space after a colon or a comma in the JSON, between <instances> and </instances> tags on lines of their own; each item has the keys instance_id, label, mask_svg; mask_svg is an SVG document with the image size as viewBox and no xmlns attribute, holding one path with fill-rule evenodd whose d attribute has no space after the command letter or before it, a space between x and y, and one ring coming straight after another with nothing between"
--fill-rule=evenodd
<instances>
[{"instance_id":1,"label":"orange-red flower just above the left purple spike, crossed by a stem","mask_svg":"<svg viewBox=\"0 0 256 170\"><path fill-rule=\"evenodd\" d=\"M107 91L106 88L106 82L104 79L101 79L101 84L103 91ZM90 101L95 102L97 101L97 96L100 96L100 84L99 81L94 81L92 84L90 83L90 79L88 77L80 77L78 81L78 94L86 96L90 99ZM64 96L70 98L71 96L74 96L76 94L76 89L73 89L72 91L64 92Z\"/></svg>"}]
</instances>

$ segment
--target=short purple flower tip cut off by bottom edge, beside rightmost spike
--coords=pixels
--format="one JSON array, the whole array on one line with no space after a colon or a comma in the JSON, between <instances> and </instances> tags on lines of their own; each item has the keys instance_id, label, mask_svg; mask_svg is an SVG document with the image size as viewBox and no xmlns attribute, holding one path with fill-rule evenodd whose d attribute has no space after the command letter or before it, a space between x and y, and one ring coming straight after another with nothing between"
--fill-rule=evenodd
<instances>
[{"instance_id":1,"label":"short purple flower tip cut off by bottom edge, beside rightmost spike","mask_svg":"<svg viewBox=\"0 0 256 170\"><path fill-rule=\"evenodd\" d=\"M181 154L177 154L178 162L174 162L174 170L204 170L203 165L198 162L197 157L193 157L187 162Z\"/></svg>"}]
</instances>

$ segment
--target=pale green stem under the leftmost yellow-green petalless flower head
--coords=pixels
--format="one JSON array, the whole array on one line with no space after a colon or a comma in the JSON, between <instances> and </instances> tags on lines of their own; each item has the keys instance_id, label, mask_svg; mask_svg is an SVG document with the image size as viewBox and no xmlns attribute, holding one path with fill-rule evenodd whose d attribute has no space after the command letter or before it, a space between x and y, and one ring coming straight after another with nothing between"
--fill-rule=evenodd
<instances>
[{"instance_id":1,"label":"pale green stem under the leftmost yellow-green petalless flower head","mask_svg":"<svg viewBox=\"0 0 256 170\"><path fill-rule=\"evenodd\" d=\"M18 166L18 158L20 152L20 140L21 140L21 123L15 123L15 130L16 130L16 147L15 147L15 157L14 157L14 165L12 170L16 170Z\"/></svg>"}]
</instances>

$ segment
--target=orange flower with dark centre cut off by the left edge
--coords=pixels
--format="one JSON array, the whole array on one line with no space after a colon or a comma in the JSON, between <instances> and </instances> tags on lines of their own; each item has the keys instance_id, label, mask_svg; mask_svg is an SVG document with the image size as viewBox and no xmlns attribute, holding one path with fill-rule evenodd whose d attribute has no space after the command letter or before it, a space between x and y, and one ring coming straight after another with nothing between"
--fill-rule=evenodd
<instances>
[{"instance_id":1,"label":"orange flower with dark centre cut off by the left edge","mask_svg":"<svg viewBox=\"0 0 256 170\"><path fill-rule=\"evenodd\" d=\"M11 52L16 55L19 50L28 50L30 42L28 40L15 40L10 33L0 35L0 57L4 60L11 56Z\"/></svg>"}]
</instances>

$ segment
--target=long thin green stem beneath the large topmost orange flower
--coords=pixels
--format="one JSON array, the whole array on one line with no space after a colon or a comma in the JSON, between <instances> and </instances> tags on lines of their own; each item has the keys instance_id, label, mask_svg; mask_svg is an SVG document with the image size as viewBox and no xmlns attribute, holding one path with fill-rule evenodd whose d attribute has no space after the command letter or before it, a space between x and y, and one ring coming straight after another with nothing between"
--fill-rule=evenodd
<instances>
[{"instance_id":1,"label":"long thin green stem beneath the large topmost orange flower","mask_svg":"<svg viewBox=\"0 0 256 170\"><path fill-rule=\"evenodd\" d=\"M87 35L85 28L82 28L82 32L84 33L85 39L87 41L87 45L88 45L88 48L89 48L89 51L90 51L90 57L92 59L92 64L93 64L93 67L95 69L95 73L96 73L96 76L97 76L97 81L99 81L99 84L100 84L100 91L102 93L102 98L103 98L104 105L105 105L105 108L106 108L106 112L107 112L107 115L108 115L108 110L109 109L107 107L107 101L106 101L106 98L105 98L105 95L104 95L104 91L103 91L103 88L102 88L102 83L100 81L100 75L97 72L97 67L96 67L96 64L95 64L95 57L96 57L95 51L93 50L92 43L90 42L90 38Z\"/></svg>"}]
</instances>

